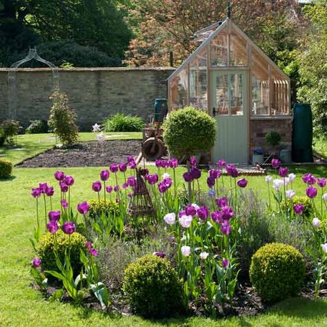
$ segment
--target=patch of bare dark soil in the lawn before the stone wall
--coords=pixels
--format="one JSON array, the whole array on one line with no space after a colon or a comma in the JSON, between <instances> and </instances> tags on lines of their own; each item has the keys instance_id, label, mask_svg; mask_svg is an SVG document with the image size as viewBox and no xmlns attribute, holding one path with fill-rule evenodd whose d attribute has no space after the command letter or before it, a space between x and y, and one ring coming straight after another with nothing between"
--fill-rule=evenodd
<instances>
[{"instance_id":1,"label":"patch of bare dark soil in the lawn before the stone wall","mask_svg":"<svg viewBox=\"0 0 327 327\"><path fill-rule=\"evenodd\" d=\"M141 140L112 140L99 143L83 142L70 148L52 148L22 161L17 167L83 167L109 166L126 161L128 155L135 159L141 152Z\"/></svg>"}]
</instances>

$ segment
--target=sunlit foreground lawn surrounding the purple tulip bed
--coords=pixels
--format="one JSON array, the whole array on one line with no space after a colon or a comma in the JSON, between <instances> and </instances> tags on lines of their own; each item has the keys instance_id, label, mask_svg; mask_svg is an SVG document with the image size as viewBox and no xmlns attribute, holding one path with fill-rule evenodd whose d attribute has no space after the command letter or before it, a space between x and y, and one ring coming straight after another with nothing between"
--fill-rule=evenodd
<instances>
[{"instance_id":1,"label":"sunlit foreground lawn surrounding the purple tulip bed","mask_svg":"<svg viewBox=\"0 0 327 327\"><path fill-rule=\"evenodd\" d=\"M155 168L152 168L155 169ZM326 168L314 168L316 175L327 175ZM14 168L13 179L0 181L0 326L326 326L327 300L288 299L258 317L221 320L180 318L149 321L139 317L115 317L72 304L52 303L30 287L30 260L33 256L28 238L35 224L34 199L30 189L41 181L56 185L52 168ZM101 168L66 168L75 177L72 206L96 198L92 181L99 179ZM304 168L297 168L297 174ZM184 171L179 168L178 176ZM249 186L266 192L264 177L249 177ZM227 182L228 179L225 179ZM201 184L205 184L204 178ZM304 192L300 181L295 190ZM55 195L58 203L58 195Z\"/></svg>"}]
</instances>

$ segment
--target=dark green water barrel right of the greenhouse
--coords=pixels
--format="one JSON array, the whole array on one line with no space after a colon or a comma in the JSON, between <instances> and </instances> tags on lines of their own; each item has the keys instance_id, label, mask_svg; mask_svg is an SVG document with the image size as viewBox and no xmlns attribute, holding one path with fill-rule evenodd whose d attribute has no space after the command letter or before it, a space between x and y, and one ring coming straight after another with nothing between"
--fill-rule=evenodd
<instances>
[{"instance_id":1,"label":"dark green water barrel right of the greenhouse","mask_svg":"<svg viewBox=\"0 0 327 327\"><path fill-rule=\"evenodd\" d=\"M293 161L313 162L313 113L309 104L295 104L292 141Z\"/></svg>"}]
</instances>

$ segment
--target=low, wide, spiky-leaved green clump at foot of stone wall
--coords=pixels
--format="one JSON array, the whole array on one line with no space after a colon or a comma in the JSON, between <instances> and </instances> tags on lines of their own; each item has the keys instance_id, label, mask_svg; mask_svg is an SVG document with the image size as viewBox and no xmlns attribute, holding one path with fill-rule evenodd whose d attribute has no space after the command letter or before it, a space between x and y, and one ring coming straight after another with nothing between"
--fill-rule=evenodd
<instances>
[{"instance_id":1,"label":"low, wide, spiky-leaved green clump at foot of stone wall","mask_svg":"<svg viewBox=\"0 0 327 327\"><path fill-rule=\"evenodd\" d=\"M104 132L141 132L144 121L141 117L117 113L108 117L103 123Z\"/></svg>"}]
</instances>

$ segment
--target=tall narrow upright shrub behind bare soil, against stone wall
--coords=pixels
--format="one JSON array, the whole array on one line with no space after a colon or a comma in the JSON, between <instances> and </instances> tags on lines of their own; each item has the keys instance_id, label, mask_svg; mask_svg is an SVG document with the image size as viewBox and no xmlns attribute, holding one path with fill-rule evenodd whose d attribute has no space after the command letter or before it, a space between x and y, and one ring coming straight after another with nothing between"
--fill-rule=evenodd
<instances>
[{"instance_id":1,"label":"tall narrow upright shrub behind bare soil, against stone wall","mask_svg":"<svg viewBox=\"0 0 327 327\"><path fill-rule=\"evenodd\" d=\"M68 98L64 93L55 91L50 99L52 99L52 107L49 127L65 146L70 146L79 137L75 112L68 106Z\"/></svg>"}]
</instances>

